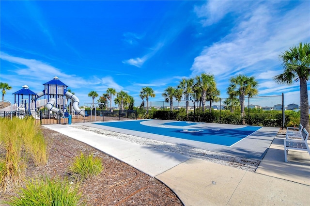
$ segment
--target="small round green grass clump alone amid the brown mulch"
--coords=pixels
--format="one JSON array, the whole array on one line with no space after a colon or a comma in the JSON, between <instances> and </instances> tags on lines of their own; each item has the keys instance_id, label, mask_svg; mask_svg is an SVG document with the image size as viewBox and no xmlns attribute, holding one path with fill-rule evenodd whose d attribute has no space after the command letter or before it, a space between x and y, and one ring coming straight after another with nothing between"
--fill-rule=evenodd
<instances>
[{"instance_id":1,"label":"small round green grass clump alone amid the brown mulch","mask_svg":"<svg viewBox=\"0 0 310 206\"><path fill-rule=\"evenodd\" d=\"M81 152L79 157L74 158L73 164L69 167L69 171L80 181L96 176L103 170L102 161L93 154L84 156Z\"/></svg>"}]
</instances>

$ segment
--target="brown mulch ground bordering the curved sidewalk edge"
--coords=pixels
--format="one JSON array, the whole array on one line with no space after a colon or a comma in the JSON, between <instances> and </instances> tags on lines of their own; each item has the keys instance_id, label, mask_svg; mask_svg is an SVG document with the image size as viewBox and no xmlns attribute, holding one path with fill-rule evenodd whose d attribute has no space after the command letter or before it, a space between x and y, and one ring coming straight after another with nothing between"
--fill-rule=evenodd
<instances>
[{"instance_id":1,"label":"brown mulch ground bordering the curved sidewalk edge","mask_svg":"<svg viewBox=\"0 0 310 206\"><path fill-rule=\"evenodd\" d=\"M85 143L46 127L42 127L42 130L48 141L48 163L45 167L35 167L29 162L27 178L46 174L50 177L68 176L68 166L73 162L72 158L83 152L100 157L104 166L98 176L80 185L82 201L87 206L182 206L178 197L155 178ZM0 201L8 200L13 195L14 192L1 194Z\"/></svg>"}]
</instances>

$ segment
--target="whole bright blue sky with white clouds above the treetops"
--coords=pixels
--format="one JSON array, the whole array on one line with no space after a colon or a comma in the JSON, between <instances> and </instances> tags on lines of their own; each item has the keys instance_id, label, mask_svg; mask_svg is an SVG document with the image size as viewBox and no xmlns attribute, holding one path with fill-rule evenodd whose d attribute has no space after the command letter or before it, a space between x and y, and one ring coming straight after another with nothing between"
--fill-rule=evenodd
<instances>
[{"instance_id":1,"label":"whole bright blue sky with white clouds above the treetops","mask_svg":"<svg viewBox=\"0 0 310 206\"><path fill-rule=\"evenodd\" d=\"M279 55L310 42L310 1L1 1L0 80L33 92L57 76L78 96L124 90L140 105L182 78L215 75L221 97L229 79L254 76L259 95L299 104L299 82L278 85ZM308 90L310 90L308 88ZM310 93L309 93L310 96ZM114 103L112 104L114 106Z\"/></svg>"}]
</instances>

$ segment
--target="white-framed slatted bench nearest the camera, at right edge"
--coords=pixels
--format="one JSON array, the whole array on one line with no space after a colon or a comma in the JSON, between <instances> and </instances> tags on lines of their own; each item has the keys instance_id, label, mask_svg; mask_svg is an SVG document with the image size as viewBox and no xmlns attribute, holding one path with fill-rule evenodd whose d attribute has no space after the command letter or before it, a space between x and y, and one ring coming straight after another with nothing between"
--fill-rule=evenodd
<instances>
[{"instance_id":1,"label":"white-framed slatted bench nearest the camera, at right edge","mask_svg":"<svg viewBox=\"0 0 310 206\"><path fill-rule=\"evenodd\" d=\"M302 129L301 135L296 136L294 135L293 138L299 137L300 139L290 139L290 137L287 135L287 138L284 140L284 159L287 162L287 153L289 150L300 150L300 151L307 151L310 155L310 149L309 145L307 143L309 133L305 128Z\"/></svg>"}]
</instances>

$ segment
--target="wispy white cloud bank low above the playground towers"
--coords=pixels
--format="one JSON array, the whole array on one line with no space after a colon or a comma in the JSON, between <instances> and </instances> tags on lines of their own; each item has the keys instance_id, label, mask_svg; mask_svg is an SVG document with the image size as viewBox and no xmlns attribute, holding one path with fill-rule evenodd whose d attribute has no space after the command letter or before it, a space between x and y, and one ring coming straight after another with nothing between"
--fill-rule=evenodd
<instances>
[{"instance_id":1,"label":"wispy white cloud bank low above the playground towers","mask_svg":"<svg viewBox=\"0 0 310 206\"><path fill-rule=\"evenodd\" d=\"M28 85L31 91L37 93L44 89L43 84L57 76L59 80L65 83L78 96L81 105L89 102L88 93L96 91L99 95L106 93L107 88L112 87L116 91L123 90L123 87L117 84L112 77L90 77L83 79L78 74L65 74L61 69L53 67L48 63L39 60L26 59L11 56L1 52L1 60L13 63L13 68L8 69L11 74L1 73L1 81L10 82L12 93L21 89L23 85ZM16 75L18 74L18 79ZM8 92L9 94L9 92ZM13 95L6 95L5 98L14 102Z\"/></svg>"}]
</instances>

